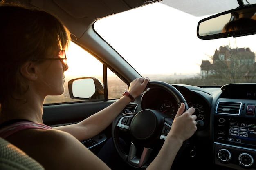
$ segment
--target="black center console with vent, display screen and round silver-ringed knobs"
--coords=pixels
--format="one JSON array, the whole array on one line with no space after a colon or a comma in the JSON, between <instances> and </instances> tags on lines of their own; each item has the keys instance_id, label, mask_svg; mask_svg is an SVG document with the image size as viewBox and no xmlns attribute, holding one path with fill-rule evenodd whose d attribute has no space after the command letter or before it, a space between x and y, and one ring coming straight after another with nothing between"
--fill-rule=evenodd
<instances>
[{"instance_id":1,"label":"black center console with vent, display screen and round silver-ringed knobs","mask_svg":"<svg viewBox=\"0 0 256 170\"><path fill-rule=\"evenodd\" d=\"M220 98L214 114L215 164L256 169L256 100Z\"/></svg>"}]
</instances>

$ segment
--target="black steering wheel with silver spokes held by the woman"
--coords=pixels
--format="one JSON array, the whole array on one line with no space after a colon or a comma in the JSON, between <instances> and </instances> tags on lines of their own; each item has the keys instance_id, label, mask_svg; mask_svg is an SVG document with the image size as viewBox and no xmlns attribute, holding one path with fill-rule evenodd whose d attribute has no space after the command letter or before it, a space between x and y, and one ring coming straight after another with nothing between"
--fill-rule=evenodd
<instances>
[{"instance_id":1,"label":"black steering wheel with silver spokes held by the woman","mask_svg":"<svg viewBox=\"0 0 256 170\"><path fill-rule=\"evenodd\" d=\"M173 95L178 106L184 103L185 110L189 108L180 91L168 83L150 81L147 88L162 88ZM169 115L152 109L141 110L138 113L120 114L112 125L113 143L119 156L132 167L146 168L162 147L172 122L173 119ZM120 131L131 136L129 151L124 150L121 145ZM182 148L185 145L186 142L183 143Z\"/></svg>"}]
</instances>

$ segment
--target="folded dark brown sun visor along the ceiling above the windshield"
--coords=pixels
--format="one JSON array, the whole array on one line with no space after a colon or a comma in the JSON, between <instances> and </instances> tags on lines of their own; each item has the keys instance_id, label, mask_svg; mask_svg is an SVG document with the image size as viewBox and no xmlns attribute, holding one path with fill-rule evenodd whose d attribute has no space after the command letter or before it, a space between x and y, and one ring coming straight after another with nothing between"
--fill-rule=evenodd
<instances>
[{"instance_id":1,"label":"folded dark brown sun visor along the ceiling above the windshield","mask_svg":"<svg viewBox=\"0 0 256 170\"><path fill-rule=\"evenodd\" d=\"M128 11L160 0L29 0L30 4L47 8L44 4L55 3L59 8L74 18L104 18L116 13ZM72 3L70 3L72 2ZM45 8L44 8L45 7ZM76 9L76 10L74 10ZM47 10L47 9L45 9ZM49 11L49 9L48 9ZM51 11L54 13L54 11Z\"/></svg>"}]
</instances>

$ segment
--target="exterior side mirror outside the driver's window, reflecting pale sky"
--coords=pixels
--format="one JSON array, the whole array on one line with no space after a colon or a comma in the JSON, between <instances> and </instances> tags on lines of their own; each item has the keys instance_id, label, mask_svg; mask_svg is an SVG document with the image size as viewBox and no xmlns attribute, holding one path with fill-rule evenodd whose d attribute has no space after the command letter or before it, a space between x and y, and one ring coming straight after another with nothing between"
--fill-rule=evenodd
<instances>
[{"instance_id":1,"label":"exterior side mirror outside the driver's window, reflecting pale sky","mask_svg":"<svg viewBox=\"0 0 256 170\"><path fill-rule=\"evenodd\" d=\"M103 83L95 77L82 77L68 81L68 91L72 99L104 99Z\"/></svg>"}]
</instances>

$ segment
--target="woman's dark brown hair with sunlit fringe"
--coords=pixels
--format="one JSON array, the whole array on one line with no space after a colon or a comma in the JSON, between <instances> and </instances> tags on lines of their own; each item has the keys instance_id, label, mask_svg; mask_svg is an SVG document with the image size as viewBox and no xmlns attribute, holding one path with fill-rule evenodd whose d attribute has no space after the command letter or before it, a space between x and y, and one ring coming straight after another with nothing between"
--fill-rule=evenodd
<instances>
[{"instance_id":1,"label":"woman's dark brown hair with sunlit fringe","mask_svg":"<svg viewBox=\"0 0 256 170\"><path fill-rule=\"evenodd\" d=\"M13 5L0 6L0 104L29 88L20 74L27 61L40 61L67 49L70 33L53 15Z\"/></svg>"}]
</instances>

